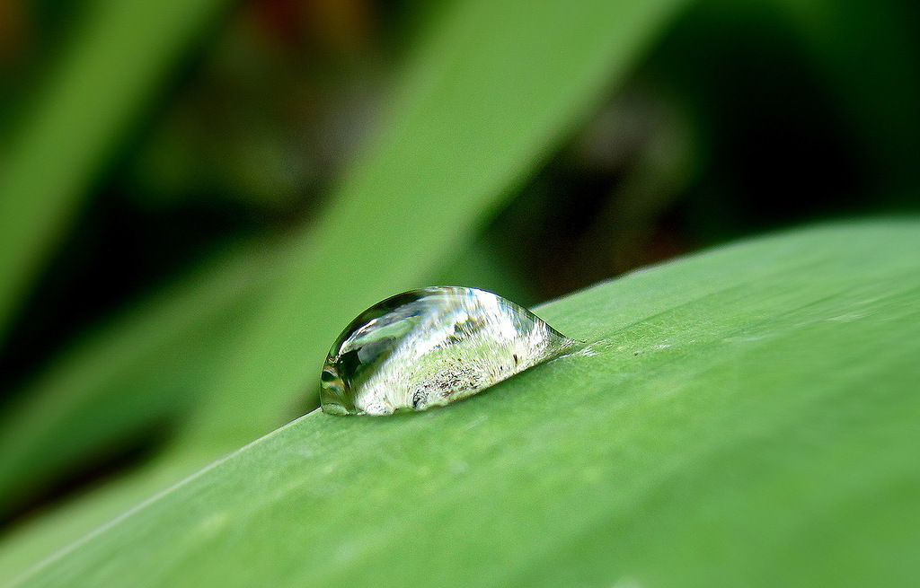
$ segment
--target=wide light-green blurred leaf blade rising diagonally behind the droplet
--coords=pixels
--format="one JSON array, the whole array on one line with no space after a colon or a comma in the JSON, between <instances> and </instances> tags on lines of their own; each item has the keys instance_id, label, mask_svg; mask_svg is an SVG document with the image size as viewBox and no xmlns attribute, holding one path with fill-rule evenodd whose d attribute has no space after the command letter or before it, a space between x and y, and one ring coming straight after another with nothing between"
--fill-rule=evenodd
<instances>
[{"instance_id":1,"label":"wide light-green blurred leaf blade rising diagonally behind the droplet","mask_svg":"<svg viewBox=\"0 0 920 588\"><path fill-rule=\"evenodd\" d=\"M408 63L381 140L305 233L190 443L226 451L280 424L285 407L313 390L342 325L425 285L623 80L681 4L452 6Z\"/></svg>"}]
</instances>

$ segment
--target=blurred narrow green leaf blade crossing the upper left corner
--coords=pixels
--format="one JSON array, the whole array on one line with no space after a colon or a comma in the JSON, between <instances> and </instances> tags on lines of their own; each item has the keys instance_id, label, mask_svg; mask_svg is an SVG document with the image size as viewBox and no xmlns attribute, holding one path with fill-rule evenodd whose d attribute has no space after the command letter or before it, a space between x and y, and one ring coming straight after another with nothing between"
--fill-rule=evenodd
<instances>
[{"instance_id":1,"label":"blurred narrow green leaf blade crossing the upper left corner","mask_svg":"<svg viewBox=\"0 0 920 588\"><path fill-rule=\"evenodd\" d=\"M0 340L109 154L224 0L88 4L0 167Z\"/></svg>"}]
</instances>

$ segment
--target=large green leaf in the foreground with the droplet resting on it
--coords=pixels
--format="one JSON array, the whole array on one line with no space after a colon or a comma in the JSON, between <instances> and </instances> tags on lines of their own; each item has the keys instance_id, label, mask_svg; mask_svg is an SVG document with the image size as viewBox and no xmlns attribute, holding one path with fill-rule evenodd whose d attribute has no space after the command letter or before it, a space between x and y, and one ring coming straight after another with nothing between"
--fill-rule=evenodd
<instances>
[{"instance_id":1,"label":"large green leaf in the foreground with the droplet resting on it","mask_svg":"<svg viewBox=\"0 0 920 588\"><path fill-rule=\"evenodd\" d=\"M539 309L587 340L451 407L311 413L18 586L909 585L920 221Z\"/></svg>"}]
</instances>

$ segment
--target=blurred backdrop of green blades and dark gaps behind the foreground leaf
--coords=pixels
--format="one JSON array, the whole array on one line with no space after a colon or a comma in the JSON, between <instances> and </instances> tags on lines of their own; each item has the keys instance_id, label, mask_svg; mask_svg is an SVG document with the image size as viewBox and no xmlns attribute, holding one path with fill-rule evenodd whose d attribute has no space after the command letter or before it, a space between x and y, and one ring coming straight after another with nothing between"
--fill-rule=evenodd
<instances>
[{"instance_id":1,"label":"blurred backdrop of green blades and dark gaps behind the foreground leaf","mask_svg":"<svg viewBox=\"0 0 920 588\"><path fill-rule=\"evenodd\" d=\"M0 3L0 534L311 410L394 290L920 211L915 2L498 4Z\"/></svg>"}]
</instances>

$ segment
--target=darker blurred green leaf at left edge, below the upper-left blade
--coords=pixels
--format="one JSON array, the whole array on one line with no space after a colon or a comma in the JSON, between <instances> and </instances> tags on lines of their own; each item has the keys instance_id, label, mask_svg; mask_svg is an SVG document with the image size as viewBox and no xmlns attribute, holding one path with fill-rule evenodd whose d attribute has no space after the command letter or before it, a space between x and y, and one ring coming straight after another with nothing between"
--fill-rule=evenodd
<instances>
[{"instance_id":1,"label":"darker blurred green leaf at left edge, below the upper-left blade","mask_svg":"<svg viewBox=\"0 0 920 588\"><path fill-rule=\"evenodd\" d=\"M209 260L86 334L20 390L0 418L0 517L43 483L190 412L282 252L246 243Z\"/></svg>"}]
</instances>

